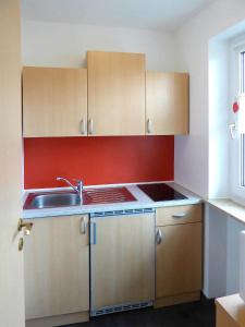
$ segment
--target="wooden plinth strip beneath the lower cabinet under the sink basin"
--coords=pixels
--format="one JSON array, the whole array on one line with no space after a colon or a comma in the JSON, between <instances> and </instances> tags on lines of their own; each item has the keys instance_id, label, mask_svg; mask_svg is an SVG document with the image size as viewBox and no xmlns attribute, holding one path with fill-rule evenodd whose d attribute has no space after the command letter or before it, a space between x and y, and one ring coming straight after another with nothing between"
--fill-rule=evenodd
<instances>
[{"instance_id":1,"label":"wooden plinth strip beneath the lower cabinet under the sink basin","mask_svg":"<svg viewBox=\"0 0 245 327\"><path fill-rule=\"evenodd\" d=\"M85 323L89 320L88 312L78 312L68 315L29 319L25 322L26 327L54 327L70 324Z\"/></svg>"}]
</instances>

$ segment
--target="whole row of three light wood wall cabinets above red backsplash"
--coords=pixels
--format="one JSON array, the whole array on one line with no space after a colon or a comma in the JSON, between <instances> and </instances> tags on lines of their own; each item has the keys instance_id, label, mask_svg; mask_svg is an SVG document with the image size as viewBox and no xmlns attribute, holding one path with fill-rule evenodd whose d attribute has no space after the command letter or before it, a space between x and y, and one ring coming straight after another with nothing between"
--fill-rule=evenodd
<instances>
[{"instance_id":1,"label":"whole row of three light wood wall cabinets above red backsplash","mask_svg":"<svg viewBox=\"0 0 245 327\"><path fill-rule=\"evenodd\" d=\"M88 69L23 70L23 135L188 133L188 74L145 71L145 55L88 51Z\"/></svg>"}]
</instances>

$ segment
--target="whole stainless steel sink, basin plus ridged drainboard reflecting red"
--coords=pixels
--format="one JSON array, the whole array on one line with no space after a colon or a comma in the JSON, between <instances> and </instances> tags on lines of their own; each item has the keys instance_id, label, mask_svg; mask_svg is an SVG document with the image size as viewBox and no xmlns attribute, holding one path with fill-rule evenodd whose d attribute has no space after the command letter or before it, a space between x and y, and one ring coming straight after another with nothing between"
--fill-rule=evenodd
<instances>
[{"instance_id":1,"label":"whole stainless steel sink, basin plus ridged drainboard reflecting red","mask_svg":"<svg viewBox=\"0 0 245 327\"><path fill-rule=\"evenodd\" d=\"M126 187L101 187L83 191L83 205L122 203L137 201ZM45 209L79 206L79 196L75 192L29 193L24 209Z\"/></svg>"}]
</instances>

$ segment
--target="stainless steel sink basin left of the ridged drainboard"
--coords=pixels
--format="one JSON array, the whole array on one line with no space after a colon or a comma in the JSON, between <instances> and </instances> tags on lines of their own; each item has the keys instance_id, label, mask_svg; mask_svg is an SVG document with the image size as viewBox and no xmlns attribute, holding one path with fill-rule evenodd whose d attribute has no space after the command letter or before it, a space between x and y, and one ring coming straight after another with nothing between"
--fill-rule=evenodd
<instances>
[{"instance_id":1,"label":"stainless steel sink basin left of the ridged drainboard","mask_svg":"<svg viewBox=\"0 0 245 327\"><path fill-rule=\"evenodd\" d=\"M76 193L51 193L34 196L29 202L26 203L26 208L44 209L51 207L78 206L79 204L79 196Z\"/></svg>"}]
</instances>

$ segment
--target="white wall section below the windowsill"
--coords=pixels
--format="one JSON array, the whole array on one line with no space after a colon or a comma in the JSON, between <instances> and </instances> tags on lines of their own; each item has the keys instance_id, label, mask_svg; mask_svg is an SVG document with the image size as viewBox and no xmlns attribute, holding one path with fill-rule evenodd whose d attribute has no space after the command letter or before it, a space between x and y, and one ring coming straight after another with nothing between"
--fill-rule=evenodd
<instances>
[{"instance_id":1,"label":"white wall section below the windowsill","mask_svg":"<svg viewBox=\"0 0 245 327\"><path fill-rule=\"evenodd\" d=\"M245 225L206 206L204 293L218 298L238 292L240 233Z\"/></svg>"}]
</instances>

